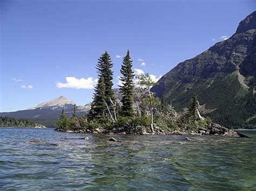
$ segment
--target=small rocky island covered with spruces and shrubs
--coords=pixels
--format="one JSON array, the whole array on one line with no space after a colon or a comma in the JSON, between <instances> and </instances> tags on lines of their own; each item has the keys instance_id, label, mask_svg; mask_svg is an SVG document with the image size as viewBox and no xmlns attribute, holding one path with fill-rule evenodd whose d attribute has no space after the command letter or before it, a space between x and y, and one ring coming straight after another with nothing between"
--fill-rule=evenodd
<instances>
[{"instance_id":1,"label":"small rocky island covered with spruces and shrubs","mask_svg":"<svg viewBox=\"0 0 256 191\"><path fill-rule=\"evenodd\" d=\"M119 96L113 90L113 63L105 52L98 59L98 82L89 114L67 117L64 109L56 131L76 133L122 133L139 135L221 135L247 137L213 123L199 112L197 94L183 112L176 112L172 103L165 103L152 91L156 83L148 73L135 76L129 50L120 69Z\"/></svg>"}]
</instances>

